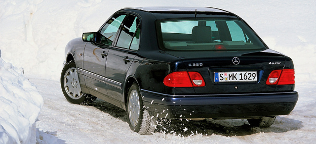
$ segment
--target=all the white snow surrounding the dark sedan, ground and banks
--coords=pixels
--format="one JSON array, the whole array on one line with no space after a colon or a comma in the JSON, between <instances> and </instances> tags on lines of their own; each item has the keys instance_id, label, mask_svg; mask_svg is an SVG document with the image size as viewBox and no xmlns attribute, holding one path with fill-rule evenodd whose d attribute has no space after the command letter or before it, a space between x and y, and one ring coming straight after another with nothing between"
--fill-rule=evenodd
<instances>
[{"instance_id":1,"label":"all the white snow surrounding the dark sedan, ground and banks","mask_svg":"<svg viewBox=\"0 0 316 144\"><path fill-rule=\"evenodd\" d=\"M129 129L124 111L102 100L68 103L58 82L66 44L97 31L118 9L135 6L210 6L242 17L269 48L293 59L296 107L271 128L250 128L245 120L183 120L143 136ZM315 0L0 0L0 144L312 143L315 7Z\"/></svg>"}]
</instances>

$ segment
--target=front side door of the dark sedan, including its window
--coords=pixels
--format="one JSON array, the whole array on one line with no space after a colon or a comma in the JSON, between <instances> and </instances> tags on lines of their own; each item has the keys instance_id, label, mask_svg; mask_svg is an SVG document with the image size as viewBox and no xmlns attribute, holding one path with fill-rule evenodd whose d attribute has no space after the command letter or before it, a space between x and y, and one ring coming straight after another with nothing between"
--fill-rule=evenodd
<instances>
[{"instance_id":1,"label":"front side door of the dark sedan, including its window","mask_svg":"<svg viewBox=\"0 0 316 144\"><path fill-rule=\"evenodd\" d=\"M87 43L83 56L83 73L87 88L94 96L108 96L105 85L105 64L109 48L116 38L126 14L116 14L96 35L95 43Z\"/></svg>"}]
</instances>

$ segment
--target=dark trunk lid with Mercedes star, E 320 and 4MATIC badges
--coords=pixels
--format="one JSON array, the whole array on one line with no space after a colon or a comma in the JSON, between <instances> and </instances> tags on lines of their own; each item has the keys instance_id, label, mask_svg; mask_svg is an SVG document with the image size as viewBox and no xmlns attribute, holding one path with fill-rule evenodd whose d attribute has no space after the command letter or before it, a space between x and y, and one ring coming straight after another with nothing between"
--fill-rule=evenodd
<instances>
[{"instance_id":1,"label":"dark trunk lid with Mercedes star, E 320 and 4MATIC badges","mask_svg":"<svg viewBox=\"0 0 316 144\"><path fill-rule=\"evenodd\" d=\"M182 59L187 71L196 71L202 75L205 87L195 87L196 94L274 92L276 85L266 85L267 78L273 70L283 69L286 59L283 54L271 49L252 51L166 51L166 53ZM227 77L230 77L228 79L234 80L238 77L236 75L241 77L247 75L244 72L256 73L256 80L240 81L239 78L232 82L215 80L219 78L218 75L215 77L216 74L225 73Z\"/></svg>"}]
</instances>

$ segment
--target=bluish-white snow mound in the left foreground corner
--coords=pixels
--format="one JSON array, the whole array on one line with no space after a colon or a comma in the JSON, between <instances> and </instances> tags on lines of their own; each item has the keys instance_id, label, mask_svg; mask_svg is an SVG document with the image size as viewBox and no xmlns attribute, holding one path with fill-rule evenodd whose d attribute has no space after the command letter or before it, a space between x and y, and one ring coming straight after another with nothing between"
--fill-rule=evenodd
<instances>
[{"instance_id":1,"label":"bluish-white snow mound in the left foreground corner","mask_svg":"<svg viewBox=\"0 0 316 144\"><path fill-rule=\"evenodd\" d=\"M0 144L35 144L42 105L42 96L23 69L0 58Z\"/></svg>"}]
</instances>

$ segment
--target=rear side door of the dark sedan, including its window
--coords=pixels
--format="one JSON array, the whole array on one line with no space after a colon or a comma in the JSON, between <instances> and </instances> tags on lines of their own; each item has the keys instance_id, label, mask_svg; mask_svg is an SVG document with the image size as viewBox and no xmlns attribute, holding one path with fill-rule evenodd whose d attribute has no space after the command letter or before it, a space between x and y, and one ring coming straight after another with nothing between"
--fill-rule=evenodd
<instances>
[{"instance_id":1,"label":"rear side door of the dark sedan, including its window","mask_svg":"<svg viewBox=\"0 0 316 144\"><path fill-rule=\"evenodd\" d=\"M133 62L140 40L140 20L129 14L124 20L117 42L109 50L106 63L106 86L111 98L123 101L123 83L126 72Z\"/></svg>"}]
</instances>

